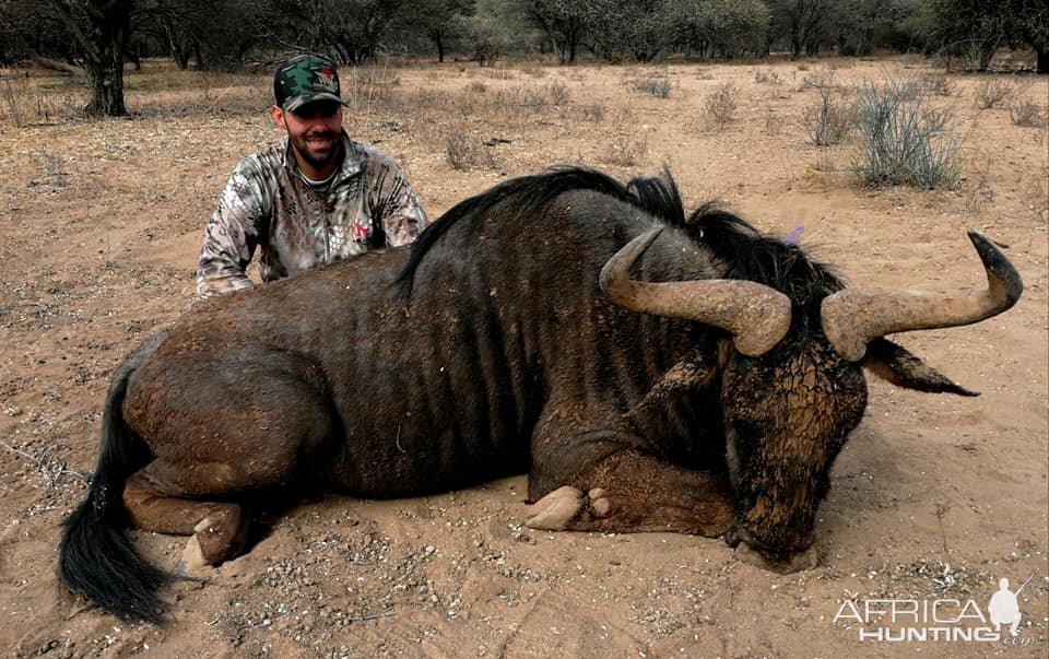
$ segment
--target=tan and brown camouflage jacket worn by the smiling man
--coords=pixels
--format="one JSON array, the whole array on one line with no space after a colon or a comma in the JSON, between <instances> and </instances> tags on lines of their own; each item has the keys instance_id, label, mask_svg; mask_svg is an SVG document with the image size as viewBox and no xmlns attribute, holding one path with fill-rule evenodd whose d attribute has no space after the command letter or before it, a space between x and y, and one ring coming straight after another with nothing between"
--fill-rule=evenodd
<instances>
[{"instance_id":1,"label":"tan and brown camouflage jacket worn by the smiling man","mask_svg":"<svg viewBox=\"0 0 1049 659\"><path fill-rule=\"evenodd\" d=\"M204 227L197 301L251 286L245 269L256 247L262 280L272 281L411 243L427 226L400 166L342 139L345 157L323 193L303 180L286 142L240 161Z\"/></svg>"}]
</instances>

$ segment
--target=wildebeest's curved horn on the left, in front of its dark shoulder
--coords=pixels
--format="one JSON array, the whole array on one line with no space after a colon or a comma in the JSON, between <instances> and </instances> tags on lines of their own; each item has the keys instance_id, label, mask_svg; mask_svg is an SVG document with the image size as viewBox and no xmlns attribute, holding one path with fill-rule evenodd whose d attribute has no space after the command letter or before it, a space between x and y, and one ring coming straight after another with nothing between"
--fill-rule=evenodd
<instances>
[{"instance_id":1,"label":"wildebeest's curved horn on the left, in front of its dark shoulder","mask_svg":"<svg viewBox=\"0 0 1049 659\"><path fill-rule=\"evenodd\" d=\"M632 311L684 318L732 333L735 349L750 356L768 352L790 328L790 298L764 284L714 279L649 283L630 280L630 267L662 232L634 238L601 269L601 290Z\"/></svg>"}]
</instances>

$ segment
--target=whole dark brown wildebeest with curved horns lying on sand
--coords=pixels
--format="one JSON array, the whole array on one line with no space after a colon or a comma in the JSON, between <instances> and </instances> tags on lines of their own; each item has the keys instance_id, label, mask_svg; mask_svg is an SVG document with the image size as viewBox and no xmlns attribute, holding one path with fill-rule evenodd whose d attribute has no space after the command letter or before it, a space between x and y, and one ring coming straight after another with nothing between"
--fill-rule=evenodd
<instances>
[{"instance_id":1,"label":"whole dark brown wildebeest with curved horns lying on sand","mask_svg":"<svg viewBox=\"0 0 1049 659\"><path fill-rule=\"evenodd\" d=\"M981 293L864 293L674 183L588 169L506 181L411 250L198 305L120 366L98 466L66 522L63 582L160 621L172 577L131 523L245 550L260 491L412 496L528 472L533 528L723 536L781 572L814 561L863 368L971 395L885 333L974 322L1023 285L971 235Z\"/></svg>"}]
</instances>

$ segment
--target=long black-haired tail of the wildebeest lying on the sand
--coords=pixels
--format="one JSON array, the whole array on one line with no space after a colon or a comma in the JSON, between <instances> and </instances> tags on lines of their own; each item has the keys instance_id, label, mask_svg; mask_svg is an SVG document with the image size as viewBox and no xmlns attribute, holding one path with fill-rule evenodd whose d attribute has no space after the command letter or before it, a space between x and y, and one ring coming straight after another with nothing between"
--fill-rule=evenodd
<instances>
[{"instance_id":1,"label":"long black-haired tail of the wildebeest lying on the sand","mask_svg":"<svg viewBox=\"0 0 1049 659\"><path fill-rule=\"evenodd\" d=\"M128 427L121 408L128 380L155 350L157 334L123 363L106 399L102 449L87 497L66 520L59 548L60 580L126 620L162 622L157 590L174 577L148 563L123 534L123 487L150 459L145 443Z\"/></svg>"}]
</instances>

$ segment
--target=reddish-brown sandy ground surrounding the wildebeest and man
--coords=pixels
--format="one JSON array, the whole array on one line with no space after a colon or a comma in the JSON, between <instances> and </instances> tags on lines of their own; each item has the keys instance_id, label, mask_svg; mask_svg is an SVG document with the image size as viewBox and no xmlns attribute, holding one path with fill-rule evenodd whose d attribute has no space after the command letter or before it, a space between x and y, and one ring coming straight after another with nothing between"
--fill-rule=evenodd
<instances>
[{"instance_id":1,"label":"reddish-brown sandy ground surrounding the wildebeest and man","mask_svg":"<svg viewBox=\"0 0 1049 659\"><path fill-rule=\"evenodd\" d=\"M40 85L25 98L47 117L27 107L30 125L0 125L0 654L1046 656L1046 128L977 109L985 79L952 77L953 95L934 101L955 110L965 180L957 191L924 191L857 185L845 170L852 146L816 148L799 123L817 98L806 80L854 86L935 72L919 60L382 68L354 86L347 113L355 138L405 165L432 215L550 165L627 178L668 164L689 208L719 197L773 234L803 225L802 245L853 283L978 286L965 230L1006 245L1026 283L1013 310L897 337L982 396L871 379L867 416L820 511L816 568L768 574L721 541L686 536L522 529L517 476L415 499L304 502L207 584L167 591L163 627L126 624L63 593L56 545L94 466L115 366L186 308L201 227L226 174L278 137L264 111L268 80L204 84L148 62L128 81L135 116L96 122L62 117L82 94L75 85L38 73L20 82ZM672 83L668 98L630 84L650 73ZM739 107L719 130L704 102L724 82ZM1044 107L1047 85L1041 78L1023 93ZM529 91L547 102L506 109L506 98ZM450 134L469 141L476 168L449 165ZM505 141L483 145L492 140ZM134 538L168 568L184 544ZM1026 645L861 642L854 621L834 622L847 600L862 610L879 598L971 598L986 615L999 578L1015 588L1030 576L1019 597Z\"/></svg>"}]
</instances>

